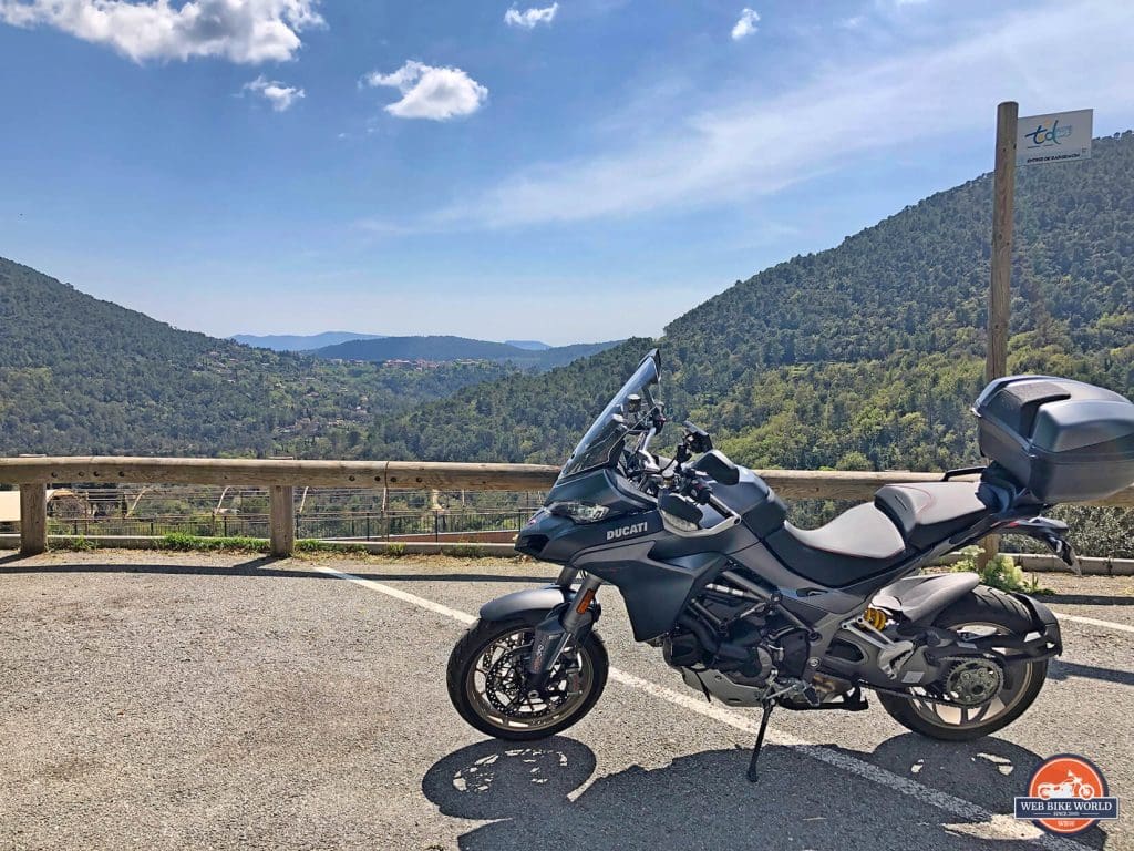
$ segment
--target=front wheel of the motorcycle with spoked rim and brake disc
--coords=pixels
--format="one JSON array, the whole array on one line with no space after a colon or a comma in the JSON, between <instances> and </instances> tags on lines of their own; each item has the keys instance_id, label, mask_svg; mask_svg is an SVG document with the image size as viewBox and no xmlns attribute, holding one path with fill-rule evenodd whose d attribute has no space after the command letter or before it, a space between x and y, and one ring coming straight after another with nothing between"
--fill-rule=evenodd
<instances>
[{"instance_id":1,"label":"front wheel of the motorcycle with spoked rim and brake disc","mask_svg":"<svg viewBox=\"0 0 1134 851\"><path fill-rule=\"evenodd\" d=\"M607 648L591 632L568 646L539 696L523 688L535 627L526 621L477 621L449 656L449 699L460 717L497 739L531 741L566 730L607 685Z\"/></svg>"}]
</instances>

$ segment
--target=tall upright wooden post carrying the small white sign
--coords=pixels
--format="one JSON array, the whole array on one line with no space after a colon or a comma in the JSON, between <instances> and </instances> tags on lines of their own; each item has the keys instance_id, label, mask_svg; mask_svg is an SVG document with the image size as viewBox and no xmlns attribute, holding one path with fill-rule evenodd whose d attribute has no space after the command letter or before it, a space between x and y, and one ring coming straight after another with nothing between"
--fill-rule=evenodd
<instances>
[{"instance_id":1,"label":"tall upright wooden post carrying the small white sign","mask_svg":"<svg viewBox=\"0 0 1134 851\"><path fill-rule=\"evenodd\" d=\"M996 168L992 172L992 277L989 281L988 356L984 380L1008 373L1008 328L1012 321L1012 220L1016 203L1016 124L1019 104L1005 101L996 110ZM990 534L976 559L984 567L1000 549Z\"/></svg>"}]
</instances>

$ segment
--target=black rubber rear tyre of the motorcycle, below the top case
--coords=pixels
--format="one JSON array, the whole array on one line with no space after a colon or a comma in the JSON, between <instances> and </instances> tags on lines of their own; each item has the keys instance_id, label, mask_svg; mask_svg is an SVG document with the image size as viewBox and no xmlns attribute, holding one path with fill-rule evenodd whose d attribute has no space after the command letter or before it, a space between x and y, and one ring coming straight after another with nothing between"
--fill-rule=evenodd
<instances>
[{"instance_id":1,"label":"black rubber rear tyre of the motorcycle, below the top case","mask_svg":"<svg viewBox=\"0 0 1134 851\"><path fill-rule=\"evenodd\" d=\"M1012 595L987 585L978 585L948 606L933 620L933 625L950 630L985 625L995 626L1002 633L1017 635L1026 634L1033 629L1031 613L1024 604ZM916 703L881 693L878 700L891 718L915 733L947 742L967 742L1008 726L1027 711L1043 688L1043 681L1048 675L1048 660L1016 663L1010 667L1010 675L1014 682L1019 677L1021 685L1014 686L1010 694L1007 685L998 693L995 700L1001 696L1007 698L1007 701L1001 700L1002 710L985 722L965 722L965 726L960 726L959 723L950 724L943 718L934 718L929 703Z\"/></svg>"}]
</instances>

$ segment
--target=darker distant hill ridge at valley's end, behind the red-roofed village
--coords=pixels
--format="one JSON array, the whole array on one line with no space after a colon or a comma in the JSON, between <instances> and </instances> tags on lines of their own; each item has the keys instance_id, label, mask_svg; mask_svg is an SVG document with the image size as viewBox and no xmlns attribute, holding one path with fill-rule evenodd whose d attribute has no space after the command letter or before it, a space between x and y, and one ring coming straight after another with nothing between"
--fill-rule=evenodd
<instances>
[{"instance_id":1,"label":"darker distant hill ridge at valley's end, behind the red-roofed village","mask_svg":"<svg viewBox=\"0 0 1134 851\"><path fill-rule=\"evenodd\" d=\"M383 337L348 340L312 352L316 357L342 361L496 361L522 369L549 370L596 354L617 343L577 343L528 349L508 343L489 343L467 337Z\"/></svg>"}]
</instances>

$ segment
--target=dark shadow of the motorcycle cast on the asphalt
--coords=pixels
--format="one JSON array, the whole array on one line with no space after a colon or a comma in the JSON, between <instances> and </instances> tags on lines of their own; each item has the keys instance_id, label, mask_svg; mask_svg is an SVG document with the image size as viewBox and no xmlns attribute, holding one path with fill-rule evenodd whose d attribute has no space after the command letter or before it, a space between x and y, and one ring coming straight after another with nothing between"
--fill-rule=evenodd
<instances>
[{"instance_id":1,"label":"dark shadow of the motorcycle cast on the asphalt","mask_svg":"<svg viewBox=\"0 0 1134 851\"><path fill-rule=\"evenodd\" d=\"M868 757L909 777L906 765L917 736L899 736ZM933 743L937 744L937 743ZM992 751L1005 750L996 742ZM1039 757L1015 745L1010 774L1004 764L973 761L965 745L954 748L958 770L948 776L957 797L985 809L1012 811ZM985 748L987 749L987 748ZM943 758L946 751L941 751ZM862 755L855 755L861 758ZM914 757L936 765L934 755ZM831 769L790 748L767 745L759 783L744 778L747 753L730 748L678 757L646 769L631 766L590 782L594 752L573 739L555 736L531 744L489 740L462 748L434 764L422 781L425 797L442 814L491 821L463 834L463 851L556 849L907 849L911 831L920 848L1018 849L1018 841L976 839L958 829L956 816ZM887 765L890 764L890 765ZM898 766L905 768L898 770ZM981 775L979 790L998 780L996 801L965 784ZM934 781L939 781L934 772ZM590 784L589 784L590 782ZM589 784L589 785L587 785ZM934 782L934 787L940 787ZM1007 801L1007 806L1000 806ZM974 814L975 817L975 814ZM951 825L947 827L947 825ZM1092 833L1094 833L1092 831ZM1084 834L1091 836L1092 834ZM1076 837L1080 842L1083 836ZM1100 841L1088 841L1101 846Z\"/></svg>"}]
</instances>

